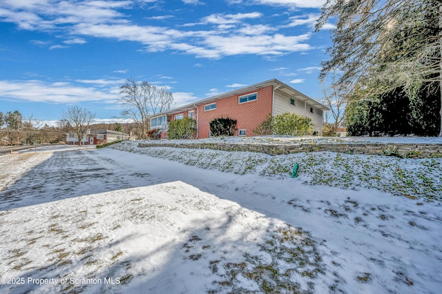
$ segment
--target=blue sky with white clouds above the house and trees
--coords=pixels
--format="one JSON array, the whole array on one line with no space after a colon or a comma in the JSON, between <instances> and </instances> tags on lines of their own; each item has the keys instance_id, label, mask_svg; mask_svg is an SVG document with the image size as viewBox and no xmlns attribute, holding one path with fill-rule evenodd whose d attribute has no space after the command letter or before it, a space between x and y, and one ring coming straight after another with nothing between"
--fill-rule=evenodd
<instances>
[{"instance_id":1,"label":"blue sky with white clouds above the house and trees","mask_svg":"<svg viewBox=\"0 0 442 294\"><path fill-rule=\"evenodd\" d=\"M72 105L113 120L128 78L177 106L280 81L320 98L325 0L1 0L0 111L57 120Z\"/></svg>"}]
</instances>

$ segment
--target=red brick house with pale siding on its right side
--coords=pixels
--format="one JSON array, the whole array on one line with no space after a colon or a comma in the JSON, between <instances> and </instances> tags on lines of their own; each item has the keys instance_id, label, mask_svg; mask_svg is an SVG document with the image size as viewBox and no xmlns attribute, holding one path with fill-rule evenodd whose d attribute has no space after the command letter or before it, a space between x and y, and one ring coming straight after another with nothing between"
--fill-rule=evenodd
<instances>
[{"instance_id":1,"label":"red brick house with pale siding on its right side","mask_svg":"<svg viewBox=\"0 0 442 294\"><path fill-rule=\"evenodd\" d=\"M150 117L151 129L159 128L161 138L167 138L169 122L192 117L197 121L197 137L211 136L209 122L218 117L230 117L237 120L236 136L256 136L253 130L268 114L280 115L293 112L310 117L314 124L314 133L320 135L323 128L323 112L327 106L307 97L294 88L271 79L260 84L226 92L214 97L202 99Z\"/></svg>"}]
</instances>

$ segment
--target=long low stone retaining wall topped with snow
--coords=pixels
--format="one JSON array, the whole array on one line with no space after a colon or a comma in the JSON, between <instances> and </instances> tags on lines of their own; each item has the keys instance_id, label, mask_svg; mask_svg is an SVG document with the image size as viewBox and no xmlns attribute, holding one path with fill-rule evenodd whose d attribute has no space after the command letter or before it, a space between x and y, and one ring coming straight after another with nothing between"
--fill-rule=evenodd
<instances>
[{"instance_id":1,"label":"long low stone retaining wall topped with snow","mask_svg":"<svg viewBox=\"0 0 442 294\"><path fill-rule=\"evenodd\" d=\"M235 143L150 143L138 146L251 151L269 155L332 151L347 154L395 155L405 158L442 157L442 144L235 144Z\"/></svg>"}]
</instances>

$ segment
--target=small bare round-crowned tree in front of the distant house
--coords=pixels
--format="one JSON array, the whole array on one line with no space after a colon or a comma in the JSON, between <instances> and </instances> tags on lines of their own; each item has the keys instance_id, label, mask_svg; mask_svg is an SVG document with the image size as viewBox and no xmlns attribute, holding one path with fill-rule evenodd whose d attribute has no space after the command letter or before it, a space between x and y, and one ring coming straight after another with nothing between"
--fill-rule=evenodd
<instances>
[{"instance_id":1,"label":"small bare round-crowned tree in front of the distant house","mask_svg":"<svg viewBox=\"0 0 442 294\"><path fill-rule=\"evenodd\" d=\"M64 126L68 132L74 133L78 139L78 146L81 147L81 140L86 136L88 128L95 119L95 113L79 106L70 107L62 113L59 125Z\"/></svg>"}]
</instances>

